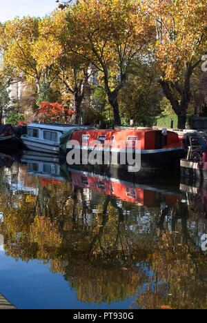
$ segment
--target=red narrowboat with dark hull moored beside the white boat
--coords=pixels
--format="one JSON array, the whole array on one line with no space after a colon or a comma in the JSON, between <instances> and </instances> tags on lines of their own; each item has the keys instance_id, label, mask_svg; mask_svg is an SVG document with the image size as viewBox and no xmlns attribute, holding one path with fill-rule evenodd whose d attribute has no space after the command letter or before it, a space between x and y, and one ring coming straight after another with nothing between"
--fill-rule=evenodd
<instances>
[{"instance_id":1,"label":"red narrowboat with dark hull moored beside the white boat","mask_svg":"<svg viewBox=\"0 0 207 323\"><path fill-rule=\"evenodd\" d=\"M77 142L78 145L72 144L74 142ZM126 158L128 152L132 153L134 159L136 155L139 155L141 161L141 169L139 168L139 170L141 171L170 170L171 172L179 169L179 161L184 157L184 147L179 135L166 129L73 130L67 143L64 144L66 153L75 148L80 150L82 155L84 151L84 158L87 157L89 160L88 164L90 164L90 153L97 152L99 157L101 156L101 162L99 160L97 164L121 166L127 170L133 166L128 163L128 158ZM110 156L107 163L105 163L106 154ZM80 160L83 162L83 158ZM85 161L84 164L87 164ZM122 161L126 161L126 164Z\"/></svg>"}]
</instances>

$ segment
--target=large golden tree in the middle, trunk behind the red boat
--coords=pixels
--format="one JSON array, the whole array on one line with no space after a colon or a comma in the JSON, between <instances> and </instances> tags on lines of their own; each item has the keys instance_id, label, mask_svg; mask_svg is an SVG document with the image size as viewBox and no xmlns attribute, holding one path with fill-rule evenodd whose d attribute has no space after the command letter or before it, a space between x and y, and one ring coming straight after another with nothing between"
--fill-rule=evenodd
<instances>
[{"instance_id":1,"label":"large golden tree in the middle, trunk behind the red boat","mask_svg":"<svg viewBox=\"0 0 207 323\"><path fill-rule=\"evenodd\" d=\"M137 6L135 0L80 0L65 9L68 48L95 66L103 77L115 124L121 124L118 95L130 63L146 50L153 35L148 13Z\"/></svg>"}]
</instances>

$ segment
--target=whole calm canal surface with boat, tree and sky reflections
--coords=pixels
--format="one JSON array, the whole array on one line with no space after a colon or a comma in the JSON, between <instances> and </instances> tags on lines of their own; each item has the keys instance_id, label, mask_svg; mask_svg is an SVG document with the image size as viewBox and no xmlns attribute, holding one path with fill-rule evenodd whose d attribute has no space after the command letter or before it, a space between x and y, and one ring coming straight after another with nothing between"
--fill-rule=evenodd
<instances>
[{"instance_id":1,"label":"whole calm canal surface with boat, tree and sky reflections","mask_svg":"<svg viewBox=\"0 0 207 323\"><path fill-rule=\"evenodd\" d=\"M0 162L0 293L17 309L207 308L207 184Z\"/></svg>"}]
</instances>

